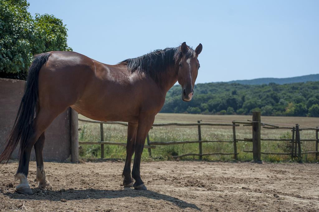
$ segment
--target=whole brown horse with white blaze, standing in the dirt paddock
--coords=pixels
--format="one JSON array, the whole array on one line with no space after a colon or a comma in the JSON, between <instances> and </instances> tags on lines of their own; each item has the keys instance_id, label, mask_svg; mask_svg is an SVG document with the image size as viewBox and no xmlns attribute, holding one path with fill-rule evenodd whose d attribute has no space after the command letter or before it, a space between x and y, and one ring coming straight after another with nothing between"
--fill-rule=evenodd
<instances>
[{"instance_id":1,"label":"whole brown horse with white blaze, standing in the dirt paddock","mask_svg":"<svg viewBox=\"0 0 319 212\"><path fill-rule=\"evenodd\" d=\"M20 141L17 192L32 194L27 175L33 146L39 186L49 185L42 157L44 131L68 107L94 120L129 123L123 185L146 190L140 177L145 138L167 91L177 81L182 85L182 99L192 99L199 69L197 56L202 48L199 44L193 50L184 42L177 48L155 50L116 65L103 64L76 52L35 56L16 121L0 155L0 162L8 161Z\"/></svg>"}]
</instances>

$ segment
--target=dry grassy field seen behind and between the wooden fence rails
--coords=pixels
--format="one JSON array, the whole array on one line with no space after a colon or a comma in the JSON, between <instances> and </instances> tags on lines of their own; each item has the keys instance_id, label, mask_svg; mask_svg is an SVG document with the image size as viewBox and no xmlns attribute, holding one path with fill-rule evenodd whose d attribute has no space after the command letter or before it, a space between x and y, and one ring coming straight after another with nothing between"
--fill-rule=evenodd
<instances>
[{"instance_id":1,"label":"dry grassy field seen behind and between the wooden fence rails","mask_svg":"<svg viewBox=\"0 0 319 212\"><path fill-rule=\"evenodd\" d=\"M82 115L79 118L87 119ZM252 116L245 115L197 115L197 114L174 114L174 113L159 113L155 117L154 123L197 123L197 120L202 120L202 123L229 123L231 121L247 121L251 120ZM263 123L270 123L280 127L293 127L299 124L300 128L317 127L319 126L319 118L311 117L270 117L265 116L261 118ZM93 123L85 123L79 121L79 140L80 141L99 141L100 140L100 125ZM232 127L220 126L202 126L202 140L233 140ZM104 124L104 140L112 142L126 143L127 128L120 125ZM251 126L236 127L236 138L251 138ZM149 132L151 141L185 141L198 140L197 126L194 127L154 127ZM265 129L261 130L261 138L291 138L292 133L289 129ZM315 131L300 131L300 138L315 139ZM85 158L100 157L100 145L81 145L80 156ZM104 145L105 158L122 158L126 156L125 148L115 145ZM301 143L302 152L314 151L315 142ZM238 142L237 152L238 160L250 161L252 160L252 153L245 153L243 150L252 150L251 142ZM291 143L276 142L276 141L262 141L262 152L290 152ZM213 152L234 152L233 143L203 143L203 153ZM182 155L186 153L198 153L198 143L177 144L167 146L157 146L152 149L152 158L149 157L148 151L145 149L142 155L143 160L166 160L171 159L174 155ZM183 159L198 159L198 157L183 157ZM232 160L233 155L214 155L204 156L204 160ZM291 156L285 155L262 155L263 161L288 161ZM315 154L304 154L304 162L314 162Z\"/></svg>"}]
</instances>

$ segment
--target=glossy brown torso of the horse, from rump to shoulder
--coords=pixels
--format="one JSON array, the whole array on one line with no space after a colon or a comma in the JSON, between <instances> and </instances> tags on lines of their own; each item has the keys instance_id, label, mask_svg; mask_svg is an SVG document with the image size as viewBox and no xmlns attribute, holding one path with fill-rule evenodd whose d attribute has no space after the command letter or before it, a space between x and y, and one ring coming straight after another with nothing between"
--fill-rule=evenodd
<instances>
[{"instance_id":1,"label":"glossy brown torso of the horse, from rump to shoulder","mask_svg":"<svg viewBox=\"0 0 319 212\"><path fill-rule=\"evenodd\" d=\"M164 101L148 76L76 52L50 52L39 72L40 106L71 106L96 120L134 122L141 111L157 113Z\"/></svg>"}]
</instances>

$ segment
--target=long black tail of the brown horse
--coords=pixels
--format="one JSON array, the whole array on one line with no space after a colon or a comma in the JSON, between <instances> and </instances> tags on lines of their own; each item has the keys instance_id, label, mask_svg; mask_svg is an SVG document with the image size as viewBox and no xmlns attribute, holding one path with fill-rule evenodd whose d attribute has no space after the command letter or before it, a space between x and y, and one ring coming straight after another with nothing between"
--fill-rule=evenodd
<instances>
[{"instance_id":1,"label":"long black tail of the brown horse","mask_svg":"<svg viewBox=\"0 0 319 212\"><path fill-rule=\"evenodd\" d=\"M20 155L27 146L27 140L32 131L32 123L35 115L35 106L38 102L38 78L39 71L44 63L48 61L50 53L36 55L29 68L26 81L26 91L21 100L16 120L14 121L11 133L6 141L6 146L0 155L0 163L8 162L12 152L20 140Z\"/></svg>"}]
</instances>

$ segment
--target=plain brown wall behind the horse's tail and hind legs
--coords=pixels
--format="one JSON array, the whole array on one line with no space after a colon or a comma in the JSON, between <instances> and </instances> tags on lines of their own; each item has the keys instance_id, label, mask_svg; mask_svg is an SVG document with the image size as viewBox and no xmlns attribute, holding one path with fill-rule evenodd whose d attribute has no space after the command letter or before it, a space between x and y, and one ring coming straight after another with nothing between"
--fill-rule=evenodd
<instances>
[{"instance_id":1,"label":"plain brown wall behind the horse's tail and hind legs","mask_svg":"<svg viewBox=\"0 0 319 212\"><path fill-rule=\"evenodd\" d=\"M25 88L24 80L0 78L0 152L16 118ZM45 161L65 161L70 156L70 108L60 114L45 131L43 159ZM18 157L19 147L12 154ZM31 159L34 160L34 150Z\"/></svg>"}]
</instances>

